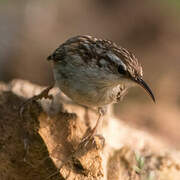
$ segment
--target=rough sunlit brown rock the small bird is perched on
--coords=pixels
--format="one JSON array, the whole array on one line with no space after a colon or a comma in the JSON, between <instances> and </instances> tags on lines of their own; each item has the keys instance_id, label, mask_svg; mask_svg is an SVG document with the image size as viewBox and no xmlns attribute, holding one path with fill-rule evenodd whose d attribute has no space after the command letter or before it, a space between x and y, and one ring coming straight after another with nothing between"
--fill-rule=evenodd
<instances>
[{"instance_id":1,"label":"rough sunlit brown rock the small bird is perched on","mask_svg":"<svg viewBox=\"0 0 180 180\"><path fill-rule=\"evenodd\" d=\"M179 180L179 152L109 114L103 136L80 144L96 113L57 89L53 100L30 101L44 88L23 80L0 83L1 180ZM21 109L22 110L22 109ZM89 118L88 118L89 117Z\"/></svg>"}]
</instances>

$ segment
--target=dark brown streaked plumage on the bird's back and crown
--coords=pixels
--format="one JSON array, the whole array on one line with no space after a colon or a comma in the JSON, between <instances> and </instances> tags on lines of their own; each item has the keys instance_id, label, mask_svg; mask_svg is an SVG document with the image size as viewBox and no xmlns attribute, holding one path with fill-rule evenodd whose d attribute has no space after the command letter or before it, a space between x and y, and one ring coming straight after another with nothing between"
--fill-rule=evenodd
<instances>
[{"instance_id":1,"label":"dark brown streaked plumage on the bird's back and crown","mask_svg":"<svg viewBox=\"0 0 180 180\"><path fill-rule=\"evenodd\" d=\"M76 36L67 40L60 45L48 59L61 61L66 53L71 55L80 54L86 64L91 63L92 59L96 59L97 65L100 66L99 60L104 58L109 61L109 63L118 65L111 61L110 57L107 55L107 51L112 51L119 57L127 65L127 69L132 76L142 77L142 67L133 53L117 46L111 41L97 39L92 36Z\"/></svg>"}]
</instances>

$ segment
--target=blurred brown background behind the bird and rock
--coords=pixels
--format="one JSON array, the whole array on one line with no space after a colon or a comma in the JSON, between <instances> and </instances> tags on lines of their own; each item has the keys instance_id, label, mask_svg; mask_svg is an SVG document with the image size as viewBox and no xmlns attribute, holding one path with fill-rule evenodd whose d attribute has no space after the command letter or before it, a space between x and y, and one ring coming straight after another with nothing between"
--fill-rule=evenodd
<instances>
[{"instance_id":1,"label":"blurred brown background behind the bird and rock","mask_svg":"<svg viewBox=\"0 0 180 180\"><path fill-rule=\"evenodd\" d=\"M131 50L157 104L133 88L114 112L180 149L179 0L0 0L0 80L53 81L46 57L67 38L90 34Z\"/></svg>"}]
</instances>

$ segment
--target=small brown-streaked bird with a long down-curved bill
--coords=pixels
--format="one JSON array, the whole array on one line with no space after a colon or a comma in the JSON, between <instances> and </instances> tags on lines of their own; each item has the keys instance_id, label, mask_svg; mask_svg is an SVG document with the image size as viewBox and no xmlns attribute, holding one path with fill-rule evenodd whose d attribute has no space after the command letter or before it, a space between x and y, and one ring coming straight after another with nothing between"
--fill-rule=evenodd
<instances>
[{"instance_id":1,"label":"small brown-streaked bird with a long down-curved bill","mask_svg":"<svg viewBox=\"0 0 180 180\"><path fill-rule=\"evenodd\" d=\"M97 108L99 117L88 138L96 134L109 105L119 102L130 87L141 86L155 102L138 59L112 41L90 35L74 36L47 60L52 62L56 86L65 95L77 104Z\"/></svg>"}]
</instances>

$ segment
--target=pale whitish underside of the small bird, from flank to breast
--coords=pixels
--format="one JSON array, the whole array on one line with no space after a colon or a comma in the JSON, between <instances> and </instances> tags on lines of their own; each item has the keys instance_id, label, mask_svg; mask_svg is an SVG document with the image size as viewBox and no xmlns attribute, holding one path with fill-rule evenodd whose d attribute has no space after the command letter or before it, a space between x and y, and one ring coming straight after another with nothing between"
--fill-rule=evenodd
<instances>
[{"instance_id":1,"label":"pale whitish underside of the small bird, from flank to breast","mask_svg":"<svg viewBox=\"0 0 180 180\"><path fill-rule=\"evenodd\" d=\"M81 59L80 59L81 60ZM71 62L71 63L70 63ZM53 72L57 86L78 104L100 107L116 101L119 77L100 67L84 66L81 61L71 59L54 65ZM93 63L93 62L92 62Z\"/></svg>"}]
</instances>

